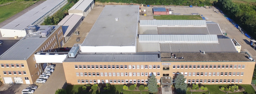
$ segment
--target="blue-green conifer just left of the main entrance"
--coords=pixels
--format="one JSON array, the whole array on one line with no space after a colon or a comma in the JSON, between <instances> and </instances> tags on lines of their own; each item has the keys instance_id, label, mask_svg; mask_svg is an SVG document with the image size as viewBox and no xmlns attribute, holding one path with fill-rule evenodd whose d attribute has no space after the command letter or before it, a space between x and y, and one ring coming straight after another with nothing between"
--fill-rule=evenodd
<instances>
[{"instance_id":1,"label":"blue-green conifer just left of the main entrance","mask_svg":"<svg viewBox=\"0 0 256 94\"><path fill-rule=\"evenodd\" d=\"M148 92L150 93L156 93L158 91L157 89L157 82L156 82L156 76L155 74L151 73L152 76L148 79Z\"/></svg>"}]
</instances>

